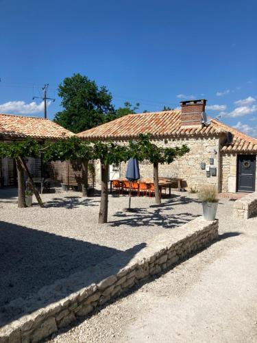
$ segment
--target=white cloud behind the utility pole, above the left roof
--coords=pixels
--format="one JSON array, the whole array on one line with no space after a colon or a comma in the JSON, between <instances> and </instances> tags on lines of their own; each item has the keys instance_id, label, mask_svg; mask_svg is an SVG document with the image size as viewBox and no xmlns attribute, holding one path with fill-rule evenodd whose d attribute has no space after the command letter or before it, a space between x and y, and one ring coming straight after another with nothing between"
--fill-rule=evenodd
<instances>
[{"instance_id":1,"label":"white cloud behind the utility pole, above the left roof","mask_svg":"<svg viewBox=\"0 0 257 343\"><path fill-rule=\"evenodd\" d=\"M51 102L47 102L49 106ZM13 113L17 115L34 115L36 113L41 113L44 110L44 102L36 104L36 102L30 102L26 104L23 101L16 102L5 102L5 104L0 104L0 113Z\"/></svg>"}]
</instances>

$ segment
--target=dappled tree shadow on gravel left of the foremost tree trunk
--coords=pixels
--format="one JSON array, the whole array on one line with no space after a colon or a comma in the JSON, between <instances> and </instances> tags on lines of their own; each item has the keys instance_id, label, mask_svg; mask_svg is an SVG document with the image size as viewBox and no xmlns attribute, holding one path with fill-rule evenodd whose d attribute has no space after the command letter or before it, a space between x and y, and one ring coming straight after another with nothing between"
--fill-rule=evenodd
<instances>
[{"instance_id":1,"label":"dappled tree shadow on gravel left of the foremost tree trunk","mask_svg":"<svg viewBox=\"0 0 257 343\"><path fill-rule=\"evenodd\" d=\"M83 200L82 200L83 199ZM62 207L66 209L77 209L79 206L98 206L99 201L93 198L81 198L79 196L64 196L63 198L53 198L44 202L47 207Z\"/></svg>"}]
</instances>

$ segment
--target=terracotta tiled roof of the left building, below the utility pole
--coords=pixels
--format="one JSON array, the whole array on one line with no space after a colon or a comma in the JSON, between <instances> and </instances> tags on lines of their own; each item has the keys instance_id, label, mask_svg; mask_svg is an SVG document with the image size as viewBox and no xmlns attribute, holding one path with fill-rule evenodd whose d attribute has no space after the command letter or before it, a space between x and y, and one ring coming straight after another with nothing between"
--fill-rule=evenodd
<instances>
[{"instance_id":1,"label":"terracotta tiled roof of the left building, below the utility pole","mask_svg":"<svg viewBox=\"0 0 257 343\"><path fill-rule=\"evenodd\" d=\"M49 119L0 114L1 138L58 139L73 133Z\"/></svg>"}]
</instances>

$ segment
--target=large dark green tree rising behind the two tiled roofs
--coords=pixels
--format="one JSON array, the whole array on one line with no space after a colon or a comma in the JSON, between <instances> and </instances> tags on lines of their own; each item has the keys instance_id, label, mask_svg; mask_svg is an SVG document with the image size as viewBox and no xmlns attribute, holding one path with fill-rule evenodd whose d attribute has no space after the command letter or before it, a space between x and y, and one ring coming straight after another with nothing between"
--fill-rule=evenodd
<instances>
[{"instance_id":1,"label":"large dark green tree rising behind the two tiled roofs","mask_svg":"<svg viewBox=\"0 0 257 343\"><path fill-rule=\"evenodd\" d=\"M64 110L56 113L56 123L72 132L82 132L106 122L114 115L112 95L105 86L97 86L79 73L65 78L58 86Z\"/></svg>"}]
</instances>

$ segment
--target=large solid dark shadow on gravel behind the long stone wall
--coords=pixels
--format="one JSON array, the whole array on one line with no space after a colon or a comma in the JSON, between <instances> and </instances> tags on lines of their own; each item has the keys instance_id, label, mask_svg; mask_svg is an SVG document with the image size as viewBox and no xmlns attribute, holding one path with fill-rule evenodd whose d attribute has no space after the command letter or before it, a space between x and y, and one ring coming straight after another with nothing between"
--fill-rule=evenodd
<instances>
[{"instance_id":1,"label":"large solid dark shadow on gravel behind the long stone wall","mask_svg":"<svg viewBox=\"0 0 257 343\"><path fill-rule=\"evenodd\" d=\"M9 304L12 300L29 299L33 294L38 294L40 289L42 291L42 287L72 274L82 273L81 276L79 274L79 282L69 285L68 294L65 293L66 288L54 294L54 301L57 301L82 287L116 274L144 247L145 243L122 251L0 221L0 327L27 314L24 308L19 309L17 305L12 307ZM104 275L101 270L94 272L97 263L103 263L112 255L117 256L117 264L110 270L103 270ZM86 268L93 269L85 272ZM52 302L53 298L49 300L36 296L33 310Z\"/></svg>"}]
</instances>

